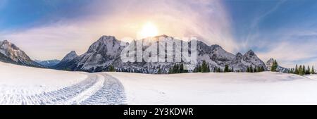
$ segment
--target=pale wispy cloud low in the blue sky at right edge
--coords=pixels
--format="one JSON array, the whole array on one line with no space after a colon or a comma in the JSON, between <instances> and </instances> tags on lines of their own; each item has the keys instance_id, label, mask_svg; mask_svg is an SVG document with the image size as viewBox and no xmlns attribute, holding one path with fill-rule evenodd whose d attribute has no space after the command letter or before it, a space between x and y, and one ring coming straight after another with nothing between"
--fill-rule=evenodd
<instances>
[{"instance_id":1,"label":"pale wispy cloud low in the blue sky at right edge","mask_svg":"<svg viewBox=\"0 0 317 119\"><path fill-rule=\"evenodd\" d=\"M267 45L267 51L259 53L259 56L268 60L276 58L281 65L292 68L295 64L306 64L317 66L317 34L312 31L305 30L283 31L281 37L276 38L276 41L270 42ZM282 37L283 36L283 37Z\"/></svg>"}]
</instances>

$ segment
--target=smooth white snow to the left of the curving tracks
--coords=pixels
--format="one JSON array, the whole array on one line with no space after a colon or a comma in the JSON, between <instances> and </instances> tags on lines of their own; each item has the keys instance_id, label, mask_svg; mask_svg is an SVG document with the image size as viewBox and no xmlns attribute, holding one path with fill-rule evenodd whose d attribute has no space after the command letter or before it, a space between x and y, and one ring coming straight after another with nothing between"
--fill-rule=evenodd
<instances>
[{"instance_id":1,"label":"smooth white snow to the left of the curving tracks","mask_svg":"<svg viewBox=\"0 0 317 119\"><path fill-rule=\"evenodd\" d=\"M1 94L23 91L27 94L36 94L66 87L87 77L79 72L32 68L2 62L0 62L0 73Z\"/></svg>"}]
</instances>

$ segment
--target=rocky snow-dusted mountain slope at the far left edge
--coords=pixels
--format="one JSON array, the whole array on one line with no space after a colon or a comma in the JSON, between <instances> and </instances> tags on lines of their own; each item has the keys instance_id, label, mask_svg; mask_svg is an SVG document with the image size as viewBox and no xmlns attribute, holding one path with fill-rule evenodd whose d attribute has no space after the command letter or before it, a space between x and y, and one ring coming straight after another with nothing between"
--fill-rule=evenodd
<instances>
[{"instance_id":1,"label":"rocky snow-dusted mountain slope at the far left edge","mask_svg":"<svg viewBox=\"0 0 317 119\"><path fill-rule=\"evenodd\" d=\"M7 40L0 42L0 61L18 65L42 67L39 63L32 61L18 46L15 46L15 44Z\"/></svg>"}]
</instances>

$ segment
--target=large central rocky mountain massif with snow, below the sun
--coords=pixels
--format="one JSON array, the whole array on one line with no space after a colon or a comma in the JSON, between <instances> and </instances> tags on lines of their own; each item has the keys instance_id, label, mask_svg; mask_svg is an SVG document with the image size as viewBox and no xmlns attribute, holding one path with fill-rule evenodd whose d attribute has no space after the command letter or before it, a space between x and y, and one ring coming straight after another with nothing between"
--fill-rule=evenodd
<instances>
[{"instance_id":1,"label":"large central rocky mountain massif with snow, below the sun","mask_svg":"<svg viewBox=\"0 0 317 119\"><path fill-rule=\"evenodd\" d=\"M154 37L153 40L165 37L174 39L166 35ZM146 40L146 39L140 39ZM178 39L174 39L178 40ZM178 40L180 41L180 40ZM137 42L137 41L133 41ZM132 43L133 43L132 42ZM120 54L125 46L120 45L120 41L112 36L103 36L97 42L92 44L85 54L76 56L73 60L63 63L63 65L56 65L55 68L61 70L82 70L87 72L100 72L109 70L112 65L117 71L133 72L133 73L168 73L168 69L172 68L175 63L172 62L123 62L121 61ZM128 44L128 43L126 43ZM130 43L131 44L131 43ZM190 46L190 42L185 42ZM162 44L158 44L162 45ZM175 45L174 45L175 46ZM149 46L143 46L143 51ZM158 46L159 47L159 46ZM175 51L175 50L173 50ZM159 54L159 50L158 50ZM190 54L190 53L189 53ZM172 56L175 56L173 54ZM63 61L63 60L62 60ZM61 63L62 63L61 61ZM214 68L225 68L229 65L230 69L236 72L245 72L247 67L263 67L267 70L265 63L259 59L253 51L248 51L242 55L240 53L234 55L225 51L219 45L207 45L204 42L197 41L197 66L203 61L209 64L211 71Z\"/></svg>"}]
</instances>

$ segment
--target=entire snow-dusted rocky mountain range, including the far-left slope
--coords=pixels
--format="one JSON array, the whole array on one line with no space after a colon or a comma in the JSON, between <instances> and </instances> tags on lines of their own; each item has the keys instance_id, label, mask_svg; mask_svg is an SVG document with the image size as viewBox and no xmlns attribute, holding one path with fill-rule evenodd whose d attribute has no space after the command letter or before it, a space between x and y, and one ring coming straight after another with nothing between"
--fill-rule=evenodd
<instances>
[{"instance_id":1,"label":"entire snow-dusted rocky mountain range, including the far-left slope","mask_svg":"<svg viewBox=\"0 0 317 119\"><path fill-rule=\"evenodd\" d=\"M166 35L152 37L151 40L157 41L157 54L159 55L159 38L165 38L176 42L188 44L189 48L192 41L182 41ZM129 73L187 73L187 72L259 72L271 70L275 60L271 58L266 63L256 56L254 51L247 51L245 54L231 54L217 44L207 45L197 41L197 64L194 70L182 69L186 65L185 61L175 62L123 62L120 58L121 52L128 46L134 46L136 42L146 42L148 39L133 40L130 43L120 42L113 36L102 36L94 42L85 54L77 55L75 51L70 51L61 60L32 61L24 51L20 50L15 44L6 40L0 42L0 61L14 63L17 65L27 65L41 68L54 68L57 70L73 70L85 72L118 71ZM131 44L131 45L129 45ZM132 45L133 44L133 45ZM151 45L151 44L150 44ZM149 46L142 46L142 51L146 51ZM173 44L173 52L175 44ZM182 47L181 47L182 49ZM136 51L137 49L135 49ZM189 51L189 55L192 53ZM175 54L172 54L175 60ZM275 65L276 71L289 73L290 69ZM176 69L176 70L175 70ZM182 70L182 71L180 71ZM184 71L185 70L185 71Z\"/></svg>"}]
</instances>

